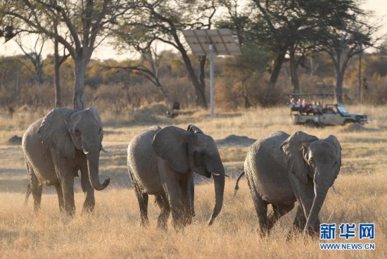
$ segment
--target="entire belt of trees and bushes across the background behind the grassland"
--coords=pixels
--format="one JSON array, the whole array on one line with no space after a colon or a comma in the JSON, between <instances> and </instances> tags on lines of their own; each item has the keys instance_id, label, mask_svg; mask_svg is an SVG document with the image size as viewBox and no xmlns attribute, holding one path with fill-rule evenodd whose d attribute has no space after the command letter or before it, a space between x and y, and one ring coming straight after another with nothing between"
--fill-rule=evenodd
<instances>
[{"instance_id":1,"label":"entire belt of trees and bushes across the background behind the grassland","mask_svg":"<svg viewBox=\"0 0 387 259\"><path fill-rule=\"evenodd\" d=\"M378 20L357 0L0 0L0 39L25 53L1 58L0 105L208 108L208 57L192 56L183 32L221 28L242 55L216 59L217 107L274 106L288 92L385 103ZM141 58L93 61L106 39Z\"/></svg>"}]
</instances>

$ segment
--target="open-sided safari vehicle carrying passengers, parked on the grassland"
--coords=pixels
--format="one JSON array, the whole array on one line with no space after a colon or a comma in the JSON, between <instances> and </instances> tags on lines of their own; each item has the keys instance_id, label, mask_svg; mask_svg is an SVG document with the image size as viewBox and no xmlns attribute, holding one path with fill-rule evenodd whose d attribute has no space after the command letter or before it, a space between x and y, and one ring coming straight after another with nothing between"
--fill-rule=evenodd
<instances>
[{"instance_id":1,"label":"open-sided safari vehicle carrying passengers, parked on the grassland","mask_svg":"<svg viewBox=\"0 0 387 259\"><path fill-rule=\"evenodd\" d=\"M319 96L322 101L327 96L333 97L334 94L294 94L289 95L305 97ZM326 104L325 106L319 103L318 105L306 104L304 107L291 105L291 118L296 125L307 125L309 127L327 126L327 125L346 125L348 123L360 123L364 125L368 123L367 115L348 113L348 110L341 103Z\"/></svg>"}]
</instances>

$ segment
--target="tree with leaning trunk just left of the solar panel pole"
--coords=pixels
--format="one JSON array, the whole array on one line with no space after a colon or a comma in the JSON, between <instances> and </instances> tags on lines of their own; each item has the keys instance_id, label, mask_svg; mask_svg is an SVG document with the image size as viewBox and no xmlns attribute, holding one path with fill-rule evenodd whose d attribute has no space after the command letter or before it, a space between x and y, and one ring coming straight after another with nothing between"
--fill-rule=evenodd
<instances>
[{"instance_id":1,"label":"tree with leaning trunk just left of the solar panel pole","mask_svg":"<svg viewBox=\"0 0 387 259\"><path fill-rule=\"evenodd\" d=\"M155 0L144 1L137 8L133 20L120 21L118 37L135 49L146 50L155 41L177 49L182 55L186 71L196 92L196 104L208 108L205 99L205 61L200 57L198 72L184 45L182 30L210 29L217 9L217 1ZM195 10L195 12L193 12Z\"/></svg>"}]
</instances>

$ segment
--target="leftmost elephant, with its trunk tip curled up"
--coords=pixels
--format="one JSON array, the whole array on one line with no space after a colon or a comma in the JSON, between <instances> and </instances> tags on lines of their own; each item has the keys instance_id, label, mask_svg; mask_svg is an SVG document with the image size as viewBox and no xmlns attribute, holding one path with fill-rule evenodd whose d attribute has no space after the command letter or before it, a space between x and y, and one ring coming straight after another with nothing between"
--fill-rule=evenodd
<instances>
[{"instance_id":1,"label":"leftmost elephant, with its trunk tip curled up","mask_svg":"<svg viewBox=\"0 0 387 259\"><path fill-rule=\"evenodd\" d=\"M28 196L32 192L34 210L40 209L42 187L56 188L59 210L75 215L74 177L81 172L82 191L86 194L84 212L95 206L94 189L108 187L110 178L99 181L99 153L103 129L96 108L72 110L55 108L44 118L32 123L23 135L22 145L30 178Z\"/></svg>"}]
</instances>

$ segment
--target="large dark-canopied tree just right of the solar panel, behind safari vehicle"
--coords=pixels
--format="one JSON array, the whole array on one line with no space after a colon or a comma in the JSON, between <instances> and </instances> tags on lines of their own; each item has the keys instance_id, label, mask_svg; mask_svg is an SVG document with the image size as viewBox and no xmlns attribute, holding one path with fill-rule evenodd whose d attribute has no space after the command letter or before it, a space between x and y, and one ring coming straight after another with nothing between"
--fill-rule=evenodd
<instances>
[{"instance_id":1,"label":"large dark-canopied tree just right of the solar panel, behind safari vehicle","mask_svg":"<svg viewBox=\"0 0 387 259\"><path fill-rule=\"evenodd\" d=\"M297 68L305 56L332 46L327 43L335 41L338 35L329 30L341 30L342 23L338 23L338 18L358 21L362 16L356 0L252 0L250 3L256 11L253 20L255 39L258 44L267 45L274 56L265 94L264 104L267 105L273 101L286 55L290 61L293 91L298 92ZM322 47L324 44L327 45Z\"/></svg>"}]
</instances>

